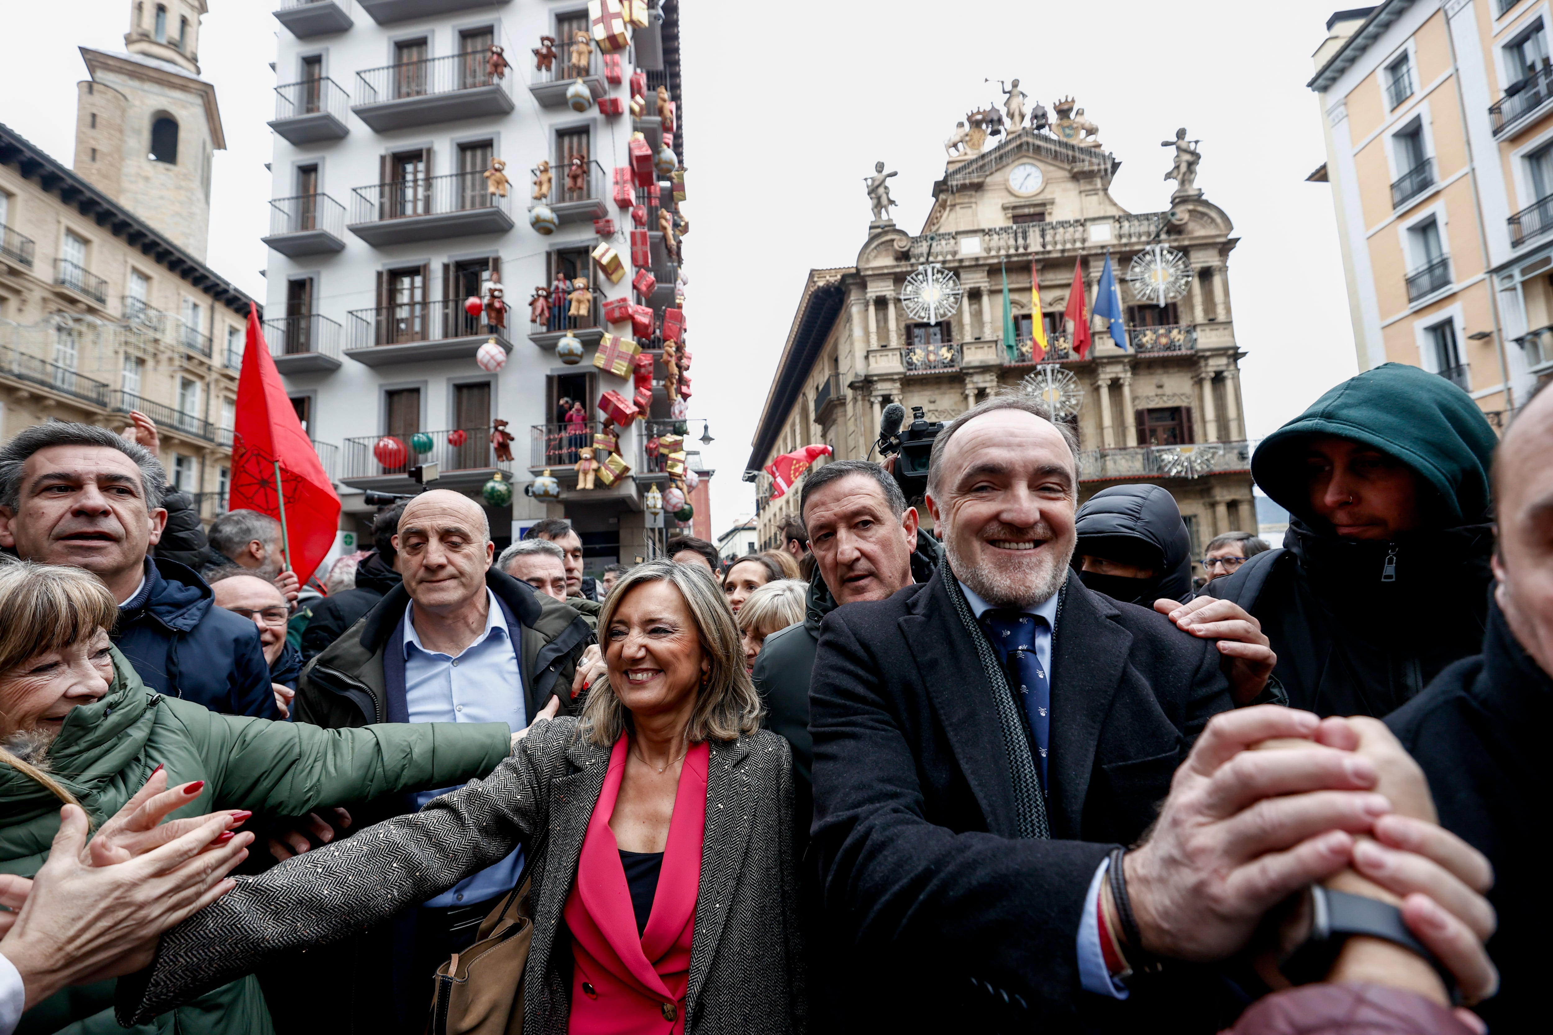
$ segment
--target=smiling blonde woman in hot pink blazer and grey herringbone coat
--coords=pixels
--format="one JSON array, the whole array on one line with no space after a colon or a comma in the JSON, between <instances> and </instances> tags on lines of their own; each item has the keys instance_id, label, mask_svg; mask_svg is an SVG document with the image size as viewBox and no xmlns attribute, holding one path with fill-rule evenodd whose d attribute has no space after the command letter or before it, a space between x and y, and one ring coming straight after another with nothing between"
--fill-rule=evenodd
<instances>
[{"instance_id":1,"label":"smiling blonde woman in hot pink blazer and grey herringbone coat","mask_svg":"<svg viewBox=\"0 0 1553 1035\"><path fill-rule=\"evenodd\" d=\"M717 583L700 565L637 565L598 628L607 675L579 717L540 715L492 776L419 813L238 878L163 936L124 1019L339 940L522 846L523 1030L806 1030L792 756L759 728Z\"/></svg>"}]
</instances>

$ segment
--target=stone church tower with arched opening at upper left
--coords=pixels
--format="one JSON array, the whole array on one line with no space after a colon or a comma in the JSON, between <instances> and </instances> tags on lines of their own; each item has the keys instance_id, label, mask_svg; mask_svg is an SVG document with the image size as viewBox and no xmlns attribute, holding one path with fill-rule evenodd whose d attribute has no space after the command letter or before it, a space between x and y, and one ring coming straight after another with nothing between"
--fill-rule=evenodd
<instances>
[{"instance_id":1,"label":"stone church tower with arched opening at upper left","mask_svg":"<svg viewBox=\"0 0 1553 1035\"><path fill-rule=\"evenodd\" d=\"M130 0L129 53L82 47L75 171L205 261L216 87L199 78L205 0Z\"/></svg>"}]
</instances>

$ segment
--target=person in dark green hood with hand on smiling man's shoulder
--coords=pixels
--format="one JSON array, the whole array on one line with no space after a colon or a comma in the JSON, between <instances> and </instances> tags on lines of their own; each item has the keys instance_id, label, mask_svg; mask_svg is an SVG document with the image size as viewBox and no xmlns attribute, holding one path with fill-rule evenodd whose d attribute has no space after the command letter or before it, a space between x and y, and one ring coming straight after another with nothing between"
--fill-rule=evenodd
<instances>
[{"instance_id":1,"label":"person in dark green hood with hand on smiling man's shoulder","mask_svg":"<svg viewBox=\"0 0 1553 1035\"><path fill-rule=\"evenodd\" d=\"M1497 444L1472 397L1438 374L1385 363L1351 377L1252 456L1256 484L1289 511L1283 549L1214 579L1171 619L1185 628L1213 597L1228 601L1272 641L1284 703L1395 711L1482 652Z\"/></svg>"}]
</instances>

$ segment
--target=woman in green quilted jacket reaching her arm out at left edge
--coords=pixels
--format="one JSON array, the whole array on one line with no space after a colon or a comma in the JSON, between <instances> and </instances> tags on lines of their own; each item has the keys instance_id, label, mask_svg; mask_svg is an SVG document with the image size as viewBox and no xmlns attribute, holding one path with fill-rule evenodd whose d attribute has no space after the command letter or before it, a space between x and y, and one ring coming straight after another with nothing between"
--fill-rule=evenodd
<instances>
[{"instance_id":1,"label":"woman in green quilted jacket reaching her arm out at left edge","mask_svg":"<svg viewBox=\"0 0 1553 1035\"><path fill-rule=\"evenodd\" d=\"M148 691L109 641L116 613L112 594L81 568L0 562L0 874L42 869L62 796L102 822L158 765L169 784L202 782L174 818L245 810L258 824L481 777L511 753L505 723L323 729L224 715ZM17 1030L118 1033L112 1002L112 981L67 988L28 1010ZM273 1027L247 976L130 1030L270 1035Z\"/></svg>"}]
</instances>

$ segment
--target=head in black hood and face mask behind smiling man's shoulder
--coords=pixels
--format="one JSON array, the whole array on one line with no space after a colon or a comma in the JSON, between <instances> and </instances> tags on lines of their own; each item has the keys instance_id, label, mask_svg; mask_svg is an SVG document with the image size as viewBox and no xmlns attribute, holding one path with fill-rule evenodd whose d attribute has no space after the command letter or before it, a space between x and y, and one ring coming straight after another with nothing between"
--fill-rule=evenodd
<instances>
[{"instance_id":1,"label":"head in black hood and face mask behind smiling man's shoulder","mask_svg":"<svg viewBox=\"0 0 1553 1035\"><path fill-rule=\"evenodd\" d=\"M1101 489L1078 509L1079 582L1123 604L1191 601L1191 537L1176 498L1159 486Z\"/></svg>"}]
</instances>

